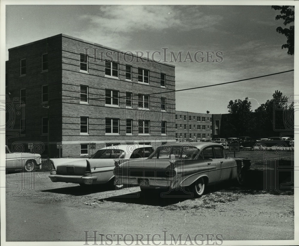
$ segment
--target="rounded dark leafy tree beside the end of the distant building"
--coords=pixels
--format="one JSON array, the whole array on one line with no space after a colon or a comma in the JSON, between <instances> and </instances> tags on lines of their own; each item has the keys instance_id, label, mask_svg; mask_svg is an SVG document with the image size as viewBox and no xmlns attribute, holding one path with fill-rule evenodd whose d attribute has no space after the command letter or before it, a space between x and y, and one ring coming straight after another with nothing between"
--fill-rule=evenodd
<instances>
[{"instance_id":1,"label":"rounded dark leafy tree beside the end of the distant building","mask_svg":"<svg viewBox=\"0 0 299 246\"><path fill-rule=\"evenodd\" d=\"M253 130L253 115L251 110L251 102L248 97L245 100L236 99L228 103L228 118L227 125L234 131L237 136L251 135Z\"/></svg>"}]
</instances>

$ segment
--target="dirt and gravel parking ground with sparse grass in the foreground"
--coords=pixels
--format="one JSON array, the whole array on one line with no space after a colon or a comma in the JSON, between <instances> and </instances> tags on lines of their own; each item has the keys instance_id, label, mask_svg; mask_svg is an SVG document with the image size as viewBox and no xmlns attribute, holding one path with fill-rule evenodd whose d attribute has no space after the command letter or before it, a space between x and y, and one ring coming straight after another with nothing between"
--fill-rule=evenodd
<instances>
[{"instance_id":1,"label":"dirt and gravel parking ground with sparse grass in the foreground","mask_svg":"<svg viewBox=\"0 0 299 246\"><path fill-rule=\"evenodd\" d=\"M170 193L172 197L161 197L159 192L144 197L139 187L86 190L76 184L53 183L48 175L6 174L6 241L85 242L94 241L95 236L100 244L101 240L130 242L130 235L143 241L178 239L176 244L180 235L181 244L196 235L196 240L218 244L221 240L294 239L292 188L263 192L258 186L227 182L209 187L206 195L196 199L181 192Z\"/></svg>"}]
</instances>

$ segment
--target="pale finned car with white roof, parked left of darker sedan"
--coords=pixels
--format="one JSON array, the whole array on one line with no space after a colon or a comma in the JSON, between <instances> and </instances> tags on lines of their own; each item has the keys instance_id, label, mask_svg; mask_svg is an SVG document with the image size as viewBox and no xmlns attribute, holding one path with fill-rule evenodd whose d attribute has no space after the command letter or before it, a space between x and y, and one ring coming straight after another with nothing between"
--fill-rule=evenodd
<instances>
[{"instance_id":1,"label":"pale finned car with white roof, parked left of darker sedan","mask_svg":"<svg viewBox=\"0 0 299 246\"><path fill-rule=\"evenodd\" d=\"M50 159L52 182L81 186L114 181L115 160L145 159L154 151L151 145L115 145L100 149L89 159Z\"/></svg>"}]
</instances>

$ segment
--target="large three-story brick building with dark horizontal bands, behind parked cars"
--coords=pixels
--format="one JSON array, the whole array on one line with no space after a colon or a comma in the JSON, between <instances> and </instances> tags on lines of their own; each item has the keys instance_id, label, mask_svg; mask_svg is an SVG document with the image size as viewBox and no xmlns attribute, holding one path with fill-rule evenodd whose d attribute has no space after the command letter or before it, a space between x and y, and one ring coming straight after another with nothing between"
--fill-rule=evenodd
<instances>
[{"instance_id":1,"label":"large three-story brick building with dark horizontal bands, behind parked cars","mask_svg":"<svg viewBox=\"0 0 299 246\"><path fill-rule=\"evenodd\" d=\"M175 67L58 34L10 48L6 142L90 155L111 144L175 141ZM163 94L153 94L167 92ZM11 108L11 110L9 110ZM96 149L89 148L95 143Z\"/></svg>"}]
</instances>

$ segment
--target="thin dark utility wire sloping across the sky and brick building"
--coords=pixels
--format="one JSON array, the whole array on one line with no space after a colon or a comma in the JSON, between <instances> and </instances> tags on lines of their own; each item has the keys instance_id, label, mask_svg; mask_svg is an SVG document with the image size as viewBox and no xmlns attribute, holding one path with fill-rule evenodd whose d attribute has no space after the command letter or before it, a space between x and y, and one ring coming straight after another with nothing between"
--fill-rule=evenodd
<instances>
[{"instance_id":1,"label":"thin dark utility wire sloping across the sky and brick building","mask_svg":"<svg viewBox=\"0 0 299 246\"><path fill-rule=\"evenodd\" d=\"M180 89L180 90L170 90L170 91L165 91L165 92L154 92L154 93L149 93L149 94L144 94L144 95L157 95L157 94L163 94L163 93L169 93L169 92L179 92L179 91L186 91L186 90L194 90L194 89L199 89L199 88L205 88L205 87L211 87L211 86L217 86L217 85L225 85L225 84L230 84L230 83L236 83L240 81L246 81L246 80L251 80L251 79L257 79L257 78L263 78L267 76L272 76L272 75L277 75L277 74L282 74L282 73L287 73L287 72L292 72L292 70L288 71L283 71L283 72L278 72L278 73L272 73L272 74L267 74L267 75L261 75L257 77L252 77L252 78L247 78L247 79L241 79L241 80L236 80L236 81L231 81L231 82L225 82L225 83L218 83L218 84L212 84L212 85L205 85L205 86L198 86L198 87L192 87L192 88L187 88L187 89ZM133 96L138 96L138 94L132 94ZM67 96L67 97L72 97L72 96ZM104 101L106 97L100 97L100 98L88 98L89 100L97 100L97 101ZM112 97L111 97L112 98ZM126 96L119 96L118 98L126 98ZM72 97L72 98L63 98L63 99L79 99L78 97ZM103 99L103 100L101 100Z\"/></svg>"}]
</instances>

